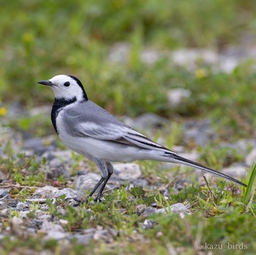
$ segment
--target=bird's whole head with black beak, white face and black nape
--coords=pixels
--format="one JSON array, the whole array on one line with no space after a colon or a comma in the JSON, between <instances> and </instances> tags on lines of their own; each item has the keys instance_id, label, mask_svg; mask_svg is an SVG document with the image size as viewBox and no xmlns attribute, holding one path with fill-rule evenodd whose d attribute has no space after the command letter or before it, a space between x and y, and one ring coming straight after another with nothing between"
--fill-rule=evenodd
<instances>
[{"instance_id":1,"label":"bird's whole head with black beak, white face and black nape","mask_svg":"<svg viewBox=\"0 0 256 255\"><path fill-rule=\"evenodd\" d=\"M70 100L75 98L78 101L88 100L82 83L72 75L56 75L50 80L42 80L38 83L50 87L56 99Z\"/></svg>"}]
</instances>

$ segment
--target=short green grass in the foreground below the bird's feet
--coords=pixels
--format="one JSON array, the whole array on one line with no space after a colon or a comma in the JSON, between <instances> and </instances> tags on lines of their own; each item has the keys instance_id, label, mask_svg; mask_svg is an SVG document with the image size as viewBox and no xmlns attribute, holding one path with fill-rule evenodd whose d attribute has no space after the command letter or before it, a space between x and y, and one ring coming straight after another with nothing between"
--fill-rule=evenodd
<instances>
[{"instance_id":1,"label":"short green grass in the foreground below the bird's feet","mask_svg":"<svg viewBox=\"0 0 256 255\"><path fill-rule=\"evenodd\" d=\"M220 189L219 189L220 188ZM167 201L160 194L150 194L141 188L133 188L129 191L119 189L113 194L105 196L102 203L95 204L92 199L86 205L80 205L79 208L73 208L68 205L64 197L53 200L48 199L48 213L53 216L54 221L64 219L67 221L65 228L69 232L76 232L79 229L91 227L103 227L104 229L116 229L118 236L113 237L113 242L103 244L100 241L91 241L89 246L70 243L64 250L59 243L52 240L39 240L35 237L20 237L20 240L5 237L0 240L1 246L6 254L10 251L19 251L22 248L30 248L32 251L41 251L49 248L50 251L61 251L63 254L70 254L72 250L78 249L78 252L94 251L96 254L167 254L168 245L172 243L174 248L182 248L186 254L193 254L194 249L200 247L202 251L207 251L207 247L219 244L224 248L231 245L240 245L244 248L227 250L227 254L244 254L252 252L255 249L255 217L246 212L247 203L242 202L244 190L238 194L231 189L222 189L221 185L211 187L211 195L208 188L193 187L188 185L183 191L171 191L170 200ZM159 208L166 208L180 200L182 193L190 194L185 197L192 207L192 215L186 215L181 218L177 214L167 213L153 214L149 219L155 222L154 227L150 229L143 228L143 221L146 219L137 213L138 205L150 205L151 202L157 202ZM184 202L184 199L181 199ZM255 200L254 200L255 201ZM250 205L255 210L255 202ZM64 214L59 213L59 208L64 208ZM31 205L35 210L38 205ZM90 210L88 210L90 209ZM12 211L12 216L18 216L18 213ZM34 217L34 216L33 216ZM9 227L8 221L2 227L3 231ZM250 232L248 233L248 229ZM134 240L127 242L127 240ZM118 245L117 245L118 244ZM101 247L101 248L100 248ZM215 251L216 254L222 254L223 248ZM78 253L78 254L80 254ZM72 254L72 253L71 253Z\"/></svg>"}]
</instances>

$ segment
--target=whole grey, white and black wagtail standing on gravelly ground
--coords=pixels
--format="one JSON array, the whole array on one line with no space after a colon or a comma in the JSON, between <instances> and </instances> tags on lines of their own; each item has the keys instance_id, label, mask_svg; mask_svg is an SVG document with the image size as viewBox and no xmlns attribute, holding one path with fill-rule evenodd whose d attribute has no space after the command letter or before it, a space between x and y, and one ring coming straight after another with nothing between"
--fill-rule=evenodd
<instances>
[{"instance_id":1,"label":"whole grey, white and black wagtail standing on gravelly ground","mask_svg":"<svg viewBox=\"0 0 256 255\"><path fill-rule=\"evenodd\" d=\"M115 161L151 159L185 164L246 186L228 175L178 156L177 153L149 140L145 135L118 121L113 115L88 99L77 77L57 75L39 83L52 88L55 95L51 120L61 141L73 151L94 161L99 167L102 177L89 194L91 197L100 186L95 201L100 199L113 173L110 162Z\"/></svg>"}]
</instances>

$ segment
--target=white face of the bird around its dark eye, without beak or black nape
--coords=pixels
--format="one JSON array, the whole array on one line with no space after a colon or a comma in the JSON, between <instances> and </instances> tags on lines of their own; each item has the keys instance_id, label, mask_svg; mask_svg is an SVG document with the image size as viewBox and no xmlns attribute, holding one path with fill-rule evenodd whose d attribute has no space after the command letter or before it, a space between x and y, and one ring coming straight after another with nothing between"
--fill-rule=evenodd
<instances>
[{"instance_id":1,"label":"white face of the bird around its dark eye, without beak or black nape","mask_svg":"<svg viewBox=\"0 0 256 255\"><path fill-rule=\"evenodd\" d=\"M76 97L78 101L83 100L83 90L77 81L68 75L57 75L50 79L53 85L50 88L57 99L73 99Z\"/></svg>"}]
</instances>

